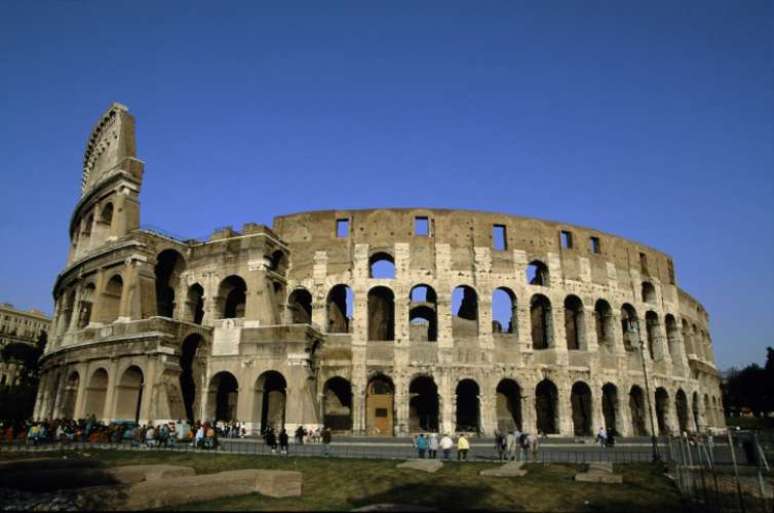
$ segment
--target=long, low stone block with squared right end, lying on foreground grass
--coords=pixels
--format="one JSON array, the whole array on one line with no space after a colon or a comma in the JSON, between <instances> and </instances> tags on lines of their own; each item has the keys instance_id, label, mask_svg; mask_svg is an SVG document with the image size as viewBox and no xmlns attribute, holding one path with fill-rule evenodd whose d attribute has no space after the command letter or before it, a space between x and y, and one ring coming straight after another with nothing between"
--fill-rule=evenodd
<instances>
[{"instance_id":1,"label":"long, low stone block with squared right end, lying on foreground grass","mask_svg":"<svg viewBox=\"0 0 774 513\"><path fill-rule=\"evenodd\" d=\"M287 470L229 470L168 479L142 481L127 488L127 498L116 509L141 510L176 506L260 493L268 497L301 496L302 475Z\"/></svg>"}]
</instances>

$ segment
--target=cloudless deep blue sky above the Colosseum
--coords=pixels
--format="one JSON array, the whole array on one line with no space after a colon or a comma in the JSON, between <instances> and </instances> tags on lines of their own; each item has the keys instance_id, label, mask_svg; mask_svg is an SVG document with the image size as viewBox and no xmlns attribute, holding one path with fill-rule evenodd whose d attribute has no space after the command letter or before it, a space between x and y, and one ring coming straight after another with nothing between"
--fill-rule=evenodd
<instances>
[{"instance_id":1,"label":"cloudless deep blue sky above the Colosseum","mask_svg":"<svg viewBox=\"0 0 774 513\"><path fill-rule=\"evenodd\" d=\"M0 299L52 311L88 133L142 222L428 206L671 254L721 368L774 345L774 3L0 2Z\"/></svg>"}]
</instances>

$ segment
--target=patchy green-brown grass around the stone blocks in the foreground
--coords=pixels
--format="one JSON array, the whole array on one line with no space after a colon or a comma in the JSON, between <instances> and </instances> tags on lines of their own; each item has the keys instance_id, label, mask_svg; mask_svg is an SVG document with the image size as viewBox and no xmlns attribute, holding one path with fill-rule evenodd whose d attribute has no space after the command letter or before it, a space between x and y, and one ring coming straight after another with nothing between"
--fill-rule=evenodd
<instances>
[{"instance_id":1,"label":"patchy green-brown grass around the stone blocks in the foreground","mask_svg":"<svg viewBox=\"0 0 774 513\"><path fill-rule=\"evenodd\" d=\"M300 471L304 477L300 498L271 499L252 494L180 508L185 510L347 510L384 502L439 510L509 511L669 512L681 511L683 506L677 488L664 477L663 467L651 464L616 466L624 484L604 485L575 482L575 465L530 464L525 477L483 478L478 473L495 464L447 463L435 474L425 474L397 469L399 461L394 460L101 450L78 454L88 454L108 466L166 463L191 466L197 474L283 469Z\"/></svg>"}]
</instances>

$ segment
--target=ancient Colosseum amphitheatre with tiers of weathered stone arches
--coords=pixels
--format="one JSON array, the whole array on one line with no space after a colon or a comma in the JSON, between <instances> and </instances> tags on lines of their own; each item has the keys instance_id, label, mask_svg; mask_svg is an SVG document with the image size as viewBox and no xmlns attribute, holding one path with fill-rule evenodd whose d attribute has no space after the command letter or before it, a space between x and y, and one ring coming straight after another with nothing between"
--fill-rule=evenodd
<instances>
[{"instance_id":1,"label":"ancient Colosseum amphitheatre with tiers of weathered stone arches","mask_svg":"<svg viewBox=\"0 0 774 513\"><path fill-rule=\"evenodd\" d=\"M724 425L707 312L665 253L423 208L301 212L179 240L141 227L143 170L134 118L113 104L84 155L38 419L369 436Z\"/></svg>"}]
</instances>

